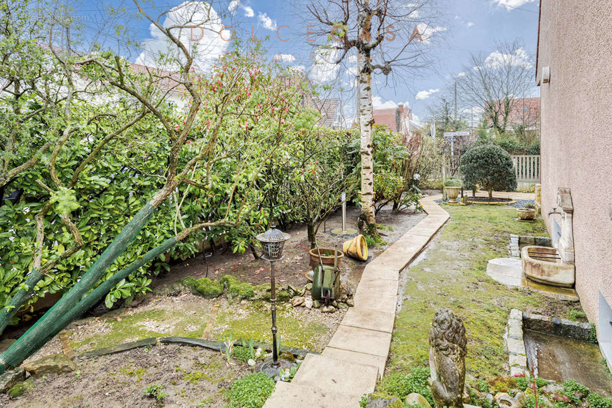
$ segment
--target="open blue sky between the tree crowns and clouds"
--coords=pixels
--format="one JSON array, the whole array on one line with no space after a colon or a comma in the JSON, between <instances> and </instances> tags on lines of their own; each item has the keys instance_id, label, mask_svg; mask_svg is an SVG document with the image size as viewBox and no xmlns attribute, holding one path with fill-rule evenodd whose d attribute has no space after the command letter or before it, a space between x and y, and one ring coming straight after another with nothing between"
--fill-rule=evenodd
<instances>
[{"instance_id":1,"label":"open blue sky between the tree crowns and clouds","mask_svg":"<svg viewBox=\"0 0 612 408\"><path fill-rule=\"evenodd\" d=\"M305 21L308 21L308 11L305 8L306 2L302 0L225 0L225 2L215 1L215 11L220 15L219 24L233 24L239 27L243 37L248 37L251 27L253 33L258 38L266 35L271 37L266 45L269 47L271 58L272 54L299 54L300 61L288 61L285 57L283 63L296 66L304 66L310 69L311 64L309 55L312 47L305 43L304 32ZM397 0L401 1L401 0ZM124 4L127 13L133 13L132 2L121 2L113 0L110 2L114 6ZM171 9L171 7L181 4L182 1L174 0L155 0L153 4L160 9ZM97 20L94 14L95 9L91 2L91 9L82 5L78 13L90 15L93 20ZM528 54L535 54L537 41L538 23L538 2L537 0L455 0L439 2L439 18L431 23L431 27L437 28L435 40L427 47L428 57L433 63L426 69L420 69L411 75L411 78L402 76L399 80L395 76L394 83L384 86L377 78L373 86L375 107L394 106L396 103L408 103L413 113L420 119L427 116L427 106L433 102L436 95L441 94L453 82L453 75L461 72L461 66L468 62L470 53L483 53L488 55L496 51L496 42L512 42L521 40L524 44L524 51ZM230 10L228 10L228 7ZM154 10L149 9L154 12ZM91 19L90 19L91 20ZM282 38L286 35L290 40L281 42L277 39L277 29L280 26ZM144 20L130 20L130 30L135 40L144 41L155 39L155 32L151 31L149 24ZM91 30L91 29L90 29ZM283 34L284 33L284 34ZM230 35L226 31L226 35ZM197 34L195 34L197 35ZM208 37L204 37L201 42L206 42ZM223 49L225 42L218 38L210 39L211 48L209 54L218 53ZM155 42L149 42L154 50ZM160 46L160 45L159 45ZM130 55L131 61L149 63L146 55ZM312 72L311 78L317 80L322 78L321 72ZM345 103L353 105L353 99L346 97Z\"/></svg>"}]
</instances>

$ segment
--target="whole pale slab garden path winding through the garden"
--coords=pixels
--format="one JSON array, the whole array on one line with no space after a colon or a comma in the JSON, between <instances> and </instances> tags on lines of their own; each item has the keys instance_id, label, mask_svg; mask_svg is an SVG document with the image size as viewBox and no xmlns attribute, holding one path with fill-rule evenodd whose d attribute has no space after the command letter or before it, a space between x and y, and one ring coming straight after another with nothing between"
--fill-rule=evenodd
<instances>
[{"instance_id":1,"label":"whole pale slab garden path winding through the garden","mask_svg":"<svg viewBox=\"0 0 612 408\"><path fill-rule=\"evenodd\" d=\"M427 217L365 266L350 308L323 354L308 354L291 382L278 382L264 408L357 407L384 373L395 322L400 272L449 219L429 196Z\"/></svg>"}]
</instances>

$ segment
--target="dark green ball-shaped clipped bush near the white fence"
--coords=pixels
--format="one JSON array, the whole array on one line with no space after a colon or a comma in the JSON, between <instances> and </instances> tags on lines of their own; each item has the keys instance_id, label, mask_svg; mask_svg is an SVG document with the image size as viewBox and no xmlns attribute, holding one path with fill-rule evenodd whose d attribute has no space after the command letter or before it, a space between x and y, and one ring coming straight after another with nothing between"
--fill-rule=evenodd
<instances>
[{"instance_id":1,"label":"dark green ball-shaped clipped bush near the white fence","mask_svg":"<svg viewBox=\"0 0 612 408\"><path fill-rule=\"evenodd\" d=\"M512 157L499 146L493 144L469 149L459 165L463 174L463 184L472 188L480 185L493 198L493 190L510 191L517 188L517 175L512 165Z\"/></svg>"}]
</instances>

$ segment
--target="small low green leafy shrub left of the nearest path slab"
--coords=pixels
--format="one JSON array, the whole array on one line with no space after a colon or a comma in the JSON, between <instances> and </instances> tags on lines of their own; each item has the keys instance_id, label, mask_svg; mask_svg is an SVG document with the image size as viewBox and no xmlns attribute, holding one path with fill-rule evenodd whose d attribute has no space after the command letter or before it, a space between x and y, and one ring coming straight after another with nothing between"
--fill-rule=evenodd
<instances>
[{"instance_id":1,"label":"small low green leafy shrub left of the nearest path slab","mask_svg":"<svg viewBox=\"0 0 612 408\"><path fill-rule=\"evenodd\" d=\"M274 391L274 380L264 373L253 373L234 381L226 393L230 408L261 408Z\"/></svg>"}]
</instances>

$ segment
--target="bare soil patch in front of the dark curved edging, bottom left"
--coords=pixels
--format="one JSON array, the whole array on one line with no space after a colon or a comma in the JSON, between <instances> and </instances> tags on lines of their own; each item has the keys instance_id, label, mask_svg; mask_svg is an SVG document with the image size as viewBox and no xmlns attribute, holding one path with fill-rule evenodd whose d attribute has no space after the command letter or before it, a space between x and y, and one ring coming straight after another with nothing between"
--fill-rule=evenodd
<instances>
[{"instance_id":1,"label":"bare soil patch in front of the dark curved edging, bottom left","mask_svg":"<svg viewBox=\"0 0 612 408\"><path fill-rule=\"evenodd\" d=\"M152 408L157 401L143 396L147 385L163 385L164 407L222 407L231 383L253 371L233 360L227 365L218 352L202 347L157 345L114 355L79 359L77 371L35 379L35 387L12 400L0 394L7 408Z\"/></svg>"}]
</instances>

